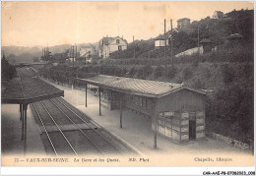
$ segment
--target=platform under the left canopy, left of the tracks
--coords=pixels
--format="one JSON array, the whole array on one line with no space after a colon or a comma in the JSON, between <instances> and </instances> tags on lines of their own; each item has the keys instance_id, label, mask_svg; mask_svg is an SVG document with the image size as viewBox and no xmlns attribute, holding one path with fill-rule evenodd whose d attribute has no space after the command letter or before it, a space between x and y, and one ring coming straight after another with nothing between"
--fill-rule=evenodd
<instances>
[{"instance_id":1,"label":"platform under the left canopy, left of the tracks","mask_svg":"<svg viewBox=\"0 0 256 176\"><path fill-rule=\"evenodd\" d=\"M2 128L2 154L24 154L24 142L22 141L22 121L20 120L19 104L1 105ZM31 108L28 108L28 154L45 154L40 138L40 129L32 116ZM11 132L11 133L10 133Z\"/></svg>"}]
</instances>

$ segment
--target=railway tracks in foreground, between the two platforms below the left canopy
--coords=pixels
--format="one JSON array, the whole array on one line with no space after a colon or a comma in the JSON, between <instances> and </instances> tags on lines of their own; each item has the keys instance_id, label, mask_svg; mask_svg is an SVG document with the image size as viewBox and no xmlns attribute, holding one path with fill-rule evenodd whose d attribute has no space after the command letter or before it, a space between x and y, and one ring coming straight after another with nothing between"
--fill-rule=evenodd
<instances>
[{"instance_id":1,"label":"railway tracks in foreground, between the two platforms below the left canopy","mask_svg":"<svg viewBox=\"0 0 256 176\"><path fill-rule=\"evenodd\" d=\"M107 155L124 154L123 151L129 150L116 145L109 134L97 128L91 119L62 98L35 102L32 108L45 132L43 139L47 141L45 149L49 154Z\"/></svg>"}]
</instances>

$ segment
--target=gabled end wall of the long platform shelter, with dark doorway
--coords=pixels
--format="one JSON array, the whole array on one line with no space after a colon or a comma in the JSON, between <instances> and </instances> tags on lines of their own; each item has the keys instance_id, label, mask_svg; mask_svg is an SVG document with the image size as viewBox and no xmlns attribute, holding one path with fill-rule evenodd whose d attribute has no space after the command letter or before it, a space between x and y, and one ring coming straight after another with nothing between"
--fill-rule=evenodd
<instances>
[{"instance_id":1,"label":"gabled end wall of the long platform shelter, with dark doorway","mask_svg":"<svg viewBox=\"0 0 256 176\"><path fill-rule=\"evenodd\" d=\"M195 139L205 137L204 95L190 90L180 90L158 100L158 111L172 112L170 117L159 118L158 131L172 140L183 143L190 139L191 121L195 121ZM193 119L192 119L193 118ZM152 121L155 130L155 121ZM192 130L191 130L192 131Z\"/></svg>"}]
</instances>

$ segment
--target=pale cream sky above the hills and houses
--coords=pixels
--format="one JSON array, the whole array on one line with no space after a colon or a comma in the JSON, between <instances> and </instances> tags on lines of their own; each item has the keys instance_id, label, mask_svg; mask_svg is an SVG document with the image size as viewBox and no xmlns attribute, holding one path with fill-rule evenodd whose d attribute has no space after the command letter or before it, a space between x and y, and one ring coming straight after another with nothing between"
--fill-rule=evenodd
<instances>
[{"instance_id":1,"label":"pale cream sky above the hills and houses","mask_svg":"<svg viewBox=\"0 0 256 176\"><path fill-rule=\"evenodd\" d=\"M53 46L123 36L149 39L181 18L198 21L215 11L253 9L253 1L1 2L1 45Z\"/></svg>"}]
</instances>

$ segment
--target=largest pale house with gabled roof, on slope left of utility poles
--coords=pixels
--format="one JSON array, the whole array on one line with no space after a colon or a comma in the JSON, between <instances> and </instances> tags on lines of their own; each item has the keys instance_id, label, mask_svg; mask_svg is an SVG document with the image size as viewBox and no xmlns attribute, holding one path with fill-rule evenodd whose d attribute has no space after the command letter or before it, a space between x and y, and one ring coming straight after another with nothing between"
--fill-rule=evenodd
<instances>
[{"instance_id":1,"label":"largest pale house with gabled roof, on slope left of utility poles","mask_svg":"<svg viewBox=\"0 0 256 176\"><path fill-rule=\"evenodd\" d=\"M122 37L103 37L98 41L98 56L107 58L112 52L127 49L128 43Z\"/></svg>"}]
</instances>

